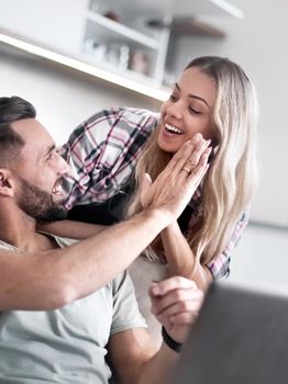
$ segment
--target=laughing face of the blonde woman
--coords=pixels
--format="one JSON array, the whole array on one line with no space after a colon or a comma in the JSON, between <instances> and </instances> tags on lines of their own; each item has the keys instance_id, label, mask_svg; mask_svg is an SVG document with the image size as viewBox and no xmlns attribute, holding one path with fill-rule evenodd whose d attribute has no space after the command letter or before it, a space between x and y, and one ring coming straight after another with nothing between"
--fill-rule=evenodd
<instances>
[{"instance_id":1,"label":"laughing face of the blonde woman","mask_svg":"<svg viewBox=\"0 0 288 384\"><path fill-rule=\"evenodd\" d=\"M197 67L186 69L162 106L158 146L175 154L196 133L212 139L214 100L214 81Z\"/></svg>"}]
</instances>

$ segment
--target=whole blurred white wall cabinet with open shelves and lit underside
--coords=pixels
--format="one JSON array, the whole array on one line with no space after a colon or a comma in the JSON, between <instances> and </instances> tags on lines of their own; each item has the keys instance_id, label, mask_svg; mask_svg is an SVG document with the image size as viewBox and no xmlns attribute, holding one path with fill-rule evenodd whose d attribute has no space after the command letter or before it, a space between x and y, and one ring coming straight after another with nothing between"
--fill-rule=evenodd
<instances>
[{"instance_id":1,"label":"whole blurred white wall cabinet with open shelves and lit underside","mask_svg":"<svg viewBox=\"0 0 288 384\"><path fill-rule=\"evenodd\" d=\"M0 0L0 43L165 100L170 36L218 35L195 15L241 11L225 0Z\"/></svg>"}]
</instances>

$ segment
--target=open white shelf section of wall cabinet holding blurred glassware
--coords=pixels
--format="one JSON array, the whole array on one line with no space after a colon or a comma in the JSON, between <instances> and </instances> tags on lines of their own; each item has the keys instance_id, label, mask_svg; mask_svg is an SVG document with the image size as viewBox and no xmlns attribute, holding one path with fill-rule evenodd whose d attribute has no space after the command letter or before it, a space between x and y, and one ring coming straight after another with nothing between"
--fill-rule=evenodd
<instances>
[{"instance_id":1,"label":"open white shelf section of wall cabinet holding blurred glassware","mask_svg":"<svg viewBox=\"0 0 288 384\"><path fill-rule=\"evenodd\" d=\"M86 13L85 59L124 77L162 86L169 29L152 29L137 4L91 0Z\"/></svg>"}]
</instances>

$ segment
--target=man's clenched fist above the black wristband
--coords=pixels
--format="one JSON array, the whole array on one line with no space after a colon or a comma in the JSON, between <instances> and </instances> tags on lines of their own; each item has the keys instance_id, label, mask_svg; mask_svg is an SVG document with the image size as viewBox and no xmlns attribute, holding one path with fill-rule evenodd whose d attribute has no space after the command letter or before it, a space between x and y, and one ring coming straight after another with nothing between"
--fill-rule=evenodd
<instances>
[{"instance_id":1,"label":"man's clenched fist above the black wristband","mask_svg":"<svg viewBox=\"0 0 288 384\"><path fill-rule=\"evenodd\" d=\"M201 307L203 292L193 281L173 276L159 283L153 283L149 287L149 296L152 313L174 340L184 342Z\"/></svg>"}]
</instances>

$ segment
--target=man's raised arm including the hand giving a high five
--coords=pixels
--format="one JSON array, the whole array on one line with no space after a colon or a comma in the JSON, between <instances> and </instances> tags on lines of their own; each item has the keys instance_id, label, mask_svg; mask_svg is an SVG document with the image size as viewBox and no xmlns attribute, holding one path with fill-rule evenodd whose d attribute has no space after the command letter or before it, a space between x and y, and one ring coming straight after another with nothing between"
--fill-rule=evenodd
<instances>
[{"instance_id":1,"label":"man's raised arm including the hand giving a high five","mask_svg":"<svg viewBox=\"0 0 288 384\"><path fill-rule=\"evenodd\" d=\"M53 309L84 297L124 270L182 212L195 191L182 167L193 153L187 143L152 184L151 205L131 219L64 249L0 251L0 310ZM198 163L207 167L207 155Z\"/></svg>"}]
</instances>

